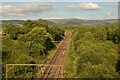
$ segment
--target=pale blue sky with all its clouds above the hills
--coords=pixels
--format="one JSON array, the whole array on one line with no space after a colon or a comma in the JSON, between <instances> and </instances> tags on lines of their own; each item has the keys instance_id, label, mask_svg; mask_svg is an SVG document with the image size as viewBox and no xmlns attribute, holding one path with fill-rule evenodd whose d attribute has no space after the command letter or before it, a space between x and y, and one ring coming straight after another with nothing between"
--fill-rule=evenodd
<instances>
[{"instance_id":1,"label":"pale blue sky with all its clouds above the hills","mask_svg":"<svg viewBox=\"0 0 120 80\"><path fill-rule=\"evenodd\" d=\"M118 18L117 2L2 2L3 20Z\"/></svg>"}]
</instances>

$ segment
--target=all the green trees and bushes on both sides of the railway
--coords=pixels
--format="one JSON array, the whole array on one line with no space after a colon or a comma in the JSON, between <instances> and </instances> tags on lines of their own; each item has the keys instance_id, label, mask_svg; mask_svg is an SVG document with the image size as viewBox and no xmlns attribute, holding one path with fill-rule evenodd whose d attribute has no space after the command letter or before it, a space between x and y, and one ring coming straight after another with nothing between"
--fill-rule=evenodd
<instances>
[{"instance_id":1,"label":"all the green trees and bushes on both sides of the railway","mask_svg":"<svg viewBox=\"0 0 120 80\"><path fill-rule=\"evenodd\" d=\"M50 26L45 20L27 20L23 24L3 23L2 57L4 64L41 64L48 60L55 41L65 30L72 32L64 77L119 78L120 60L118 24L104 26ZM10 69L10 70L9 70ZM9 78L36 78L35 66L8 66ZM3 65L3 77L5 77Z\"/></svg>"}]
</instances>

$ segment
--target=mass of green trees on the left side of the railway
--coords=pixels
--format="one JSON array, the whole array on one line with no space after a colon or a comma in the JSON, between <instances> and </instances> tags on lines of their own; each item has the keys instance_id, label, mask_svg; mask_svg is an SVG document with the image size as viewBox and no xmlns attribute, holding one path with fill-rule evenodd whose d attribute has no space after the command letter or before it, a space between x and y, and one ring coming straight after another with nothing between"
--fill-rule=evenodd
<instances>
[{"instance_id":1,"label":"mass of green trees on the left side of the railway","mask_svg":"<svg viewBox=\"0 0 120 80\"><path fill-rule=\"evenodd\" d=\"M27 20L23 24L3 23L2 58L4 64L45 63L51 50L56 48L54 41L64 37L62 26L50 26L45 20ZM33 67L19 67L9 71L9 77L24 77L34 72ZM5 65L3 66L5 73ZM36 72L34 72L36 73ZM33 74L31 74L33 75ZM5 77L5 74L3 74Z\"/></svg>"}]
</instances>

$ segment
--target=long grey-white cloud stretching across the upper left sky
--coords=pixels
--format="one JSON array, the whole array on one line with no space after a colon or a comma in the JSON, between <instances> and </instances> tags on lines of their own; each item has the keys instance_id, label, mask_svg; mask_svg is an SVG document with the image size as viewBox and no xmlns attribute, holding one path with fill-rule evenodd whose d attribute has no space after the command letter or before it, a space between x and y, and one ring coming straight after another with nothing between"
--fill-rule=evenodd
<instances>
[{"instance_id":1,"label":"long grey-white cloud stretching across the upper left sky","mask_svg":"<svg viewBox=\"0 0 120 80\"><path fill-rule=\"evenodd\" d=\"M18 5L0 6L3 15L7 16L25 16L27 14L38 14L55 8L48 3L23 3Z\"/></svg>"}]
</instances>

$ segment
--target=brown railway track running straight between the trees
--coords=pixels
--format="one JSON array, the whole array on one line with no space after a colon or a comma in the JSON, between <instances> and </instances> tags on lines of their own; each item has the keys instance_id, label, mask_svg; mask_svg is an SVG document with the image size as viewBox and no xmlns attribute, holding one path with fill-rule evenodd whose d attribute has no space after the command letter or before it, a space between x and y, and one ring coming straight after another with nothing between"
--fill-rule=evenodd
<instances>
[{"instance_id":1,"label":"brown railway track running straight between the trees","mask_svg":"<svg viewBox=\"0 0 120 80\"><path fill-rule=\"evenodd\" d=\"M68 43L70 41L70 38L71 38L71 33L67 32L63 41L56 50L55 55L48 63L51 66L45 67L44 73L40 76L40 78L44 80L46 78L63 78L63 65L65 63L65 59L67 56ZM58 65L58 66L54 66L54 65Z\"/></svg>"}]
</instances>

